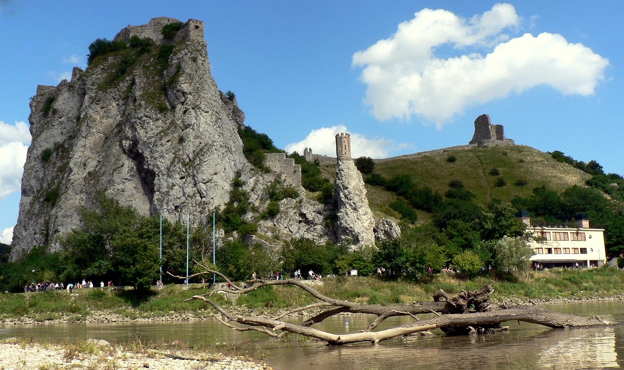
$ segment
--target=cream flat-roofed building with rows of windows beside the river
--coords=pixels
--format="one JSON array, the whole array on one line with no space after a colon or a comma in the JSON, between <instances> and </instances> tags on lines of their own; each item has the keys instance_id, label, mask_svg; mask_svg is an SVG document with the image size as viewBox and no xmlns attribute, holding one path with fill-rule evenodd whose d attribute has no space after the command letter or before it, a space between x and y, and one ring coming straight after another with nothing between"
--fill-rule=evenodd
<instances>
[{"instance_id":1,"label":"cream flat-roofed building with rows of windows beside the river","mask_svg":"<svg viewBox=\"0 0 624 370\"><path fill-rule=\"evenodd\" d=\"M529 212L522 211L519 216L537 239L529 242L535 252L530 258L534 266L601 267L607 263L605 229L592 229L587 214L575 217L575 227L533 226Z\"/></svg>"}]
</instances>

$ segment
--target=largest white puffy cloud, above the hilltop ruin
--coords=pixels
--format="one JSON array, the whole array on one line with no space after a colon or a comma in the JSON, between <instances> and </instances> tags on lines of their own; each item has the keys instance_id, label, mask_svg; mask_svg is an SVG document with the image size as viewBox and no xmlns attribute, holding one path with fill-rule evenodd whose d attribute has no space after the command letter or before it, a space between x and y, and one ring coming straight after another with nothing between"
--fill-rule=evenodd
<instances>
[{"instance_id":1,"label":"largest white puffy cloud, above the hilltop ruin","mask_svg":"<svg viewBox=\"0 0 624 370\"><path fill-rule=\"evenodd\" d=\"M364 102L381 121L419 115L441 126L467 106L537 85L591 95L604 80L608 59L558 34L504 33L519 26L510 4L470 19L443 9L416 12L392 37L353 55L368 85ZM436 56L449 49L461 55Z\"/></svg>"}]
</instances>

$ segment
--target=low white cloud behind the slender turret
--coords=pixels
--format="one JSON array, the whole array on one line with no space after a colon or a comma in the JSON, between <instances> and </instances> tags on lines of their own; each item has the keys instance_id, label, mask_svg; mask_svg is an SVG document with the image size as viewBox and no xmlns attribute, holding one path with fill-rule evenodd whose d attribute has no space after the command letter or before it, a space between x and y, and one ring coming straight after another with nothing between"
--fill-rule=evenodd
<instances>
[{"instance_id":1,"label":"low white cloud behind the slender turret","mask_svg":"<svg viewBox=\"0 0 624 370\"><path fill-rule=\"evenodd\" d=\"M348 132L346 126L338 125L332 127L323 127L312 130L305 139L298 143L286 145L286 152L303 154L304 148L311 148L314 154L323 154L326 156L336 156L336 134ZM388 153L392 151L393 143L391 140L384 138L366 138L364 135L351 133L351 156L358 158L361 156L371 158L386 158Z\"/></svg>"}]
</instances>

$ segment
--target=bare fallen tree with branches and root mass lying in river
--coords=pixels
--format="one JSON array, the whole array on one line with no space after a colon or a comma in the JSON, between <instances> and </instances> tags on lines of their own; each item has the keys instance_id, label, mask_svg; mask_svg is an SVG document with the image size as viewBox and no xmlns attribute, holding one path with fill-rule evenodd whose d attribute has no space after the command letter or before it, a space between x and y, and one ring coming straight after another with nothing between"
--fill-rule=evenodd
<instances>
[{"instance_id":1,"label":"bare fallen tree with branches and root mass lying in river","mask_svg":"<svg viewBox=\"0 0 624 370\"><path fill-rule=\"evenodd\" d=\"M280 338L286 333L301 334L311 338L321 339L328 344L347 344L356 342L378 343L399 336L418 333L440 328L447 334L467 334L467 333L490 333L500 328L500 323L504 321L518 320L529 323L536 323L550 328L573 328L588 326L607 326L613 323L598 317L582 317L558 313L535 306L505 306L496 305L488 297L494 290L489 285L485 285L474 292L462 291L456 297L449 296L443 290L434 294L433 302L416 303L411 305L366 305L344 300L336 300L319 293L314 288L307 285L302 280L253 280L250 287L239 287L230 281L225 275L210 268L206 268L203 273L216 273L230 284L228 289L217 289L203 295L195 295L185 301L201 300L213 306L220 315L216 315L218 321L233 330L238 331L260 331L269 336ZM196 276L193 275L193 276ZM180 277L186 278L186 277ZM319 302L307 306L294 308L282 313L274 318L235 315L215 301L208 298L216 292L228 292L234 294L244 294L260 287L271 285L295 285L309 293ZM288 323L281 320L286 315L296 313L310 308L325 308L323 312L306 320L300 325ZM364 330L358 333L334 334L312 328L314 323L319 323L326 318L339 313L368 313L376 315L377 318ZM422 313L435 313L437 316L421 320L416 315ZM414 321L404 325L395 326L386 330L373 331L381 322L391 316L411 316Z\"/></svg>"}]
</instances>

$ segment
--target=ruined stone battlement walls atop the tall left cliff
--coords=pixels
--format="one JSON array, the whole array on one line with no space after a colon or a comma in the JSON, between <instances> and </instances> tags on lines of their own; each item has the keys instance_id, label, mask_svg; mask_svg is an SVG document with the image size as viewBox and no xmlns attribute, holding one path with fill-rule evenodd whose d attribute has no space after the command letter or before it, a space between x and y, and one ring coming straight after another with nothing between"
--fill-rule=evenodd
<instances>
[{"instance_id":1,"label":"ruined stone battlement walls atop the tall left cliff","mask_svg":"<svg viewBox=\"0 0 624 370\"><path fill-rule=\"evenodd\" d=\"M162 36L163 27L168 24L180 22L175 18L170 17L157 17L152 18L148 24L142 24L141 26L130 26L125 27L117 36L115 36L115 41L123 40L127 42L130 40L132 36L139 36L142 39L152 39L157 44L162 44L165 42ZM180 22L182 23L182 22ZM184 26L178 30L175 37L173 37L170 42L178 42L184 39L202 39L203 40L203 22L197 21L196 19L189 19ZM167 40L169 41L169 40Z\"/></svg>"}]
</instances>

